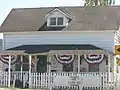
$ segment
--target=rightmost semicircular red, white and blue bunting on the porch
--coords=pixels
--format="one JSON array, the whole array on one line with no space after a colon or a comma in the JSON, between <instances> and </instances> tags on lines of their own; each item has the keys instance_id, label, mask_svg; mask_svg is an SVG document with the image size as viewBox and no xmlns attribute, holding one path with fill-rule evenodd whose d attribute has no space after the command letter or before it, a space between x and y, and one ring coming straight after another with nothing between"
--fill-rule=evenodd
<instances>
[{"instance_id":1,"label":"rightmost semicircular red, white and blue bunting on the porch","mask_svg":"<svg viewBox=\"0 0 120 90\"><path fill-rule=\"evenodd\" d=\"M101 54L85 54L84 59L86 60L87 63L89 64L97 64L101 63L103 61L104 55Z\"/></svg>"}]
</instances>

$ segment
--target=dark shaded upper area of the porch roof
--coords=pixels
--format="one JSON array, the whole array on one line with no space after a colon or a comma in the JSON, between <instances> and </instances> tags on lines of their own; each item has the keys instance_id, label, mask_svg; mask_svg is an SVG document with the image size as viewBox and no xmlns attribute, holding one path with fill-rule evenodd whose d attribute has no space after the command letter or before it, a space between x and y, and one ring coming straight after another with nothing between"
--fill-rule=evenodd
<instances>
[{"instance_id":1,"label":"dark shaded upper area of the porch roof","mask_svg":"<svg viewBox=\"0 0 120 90\"><path fill-rule=\"evenodd\" d=\"M80 45L21 45L7 50L22 50L25 53L44 53L51 50L102 50L99 47L90 44L80 44Z\"/></svg>"}]
</instances>

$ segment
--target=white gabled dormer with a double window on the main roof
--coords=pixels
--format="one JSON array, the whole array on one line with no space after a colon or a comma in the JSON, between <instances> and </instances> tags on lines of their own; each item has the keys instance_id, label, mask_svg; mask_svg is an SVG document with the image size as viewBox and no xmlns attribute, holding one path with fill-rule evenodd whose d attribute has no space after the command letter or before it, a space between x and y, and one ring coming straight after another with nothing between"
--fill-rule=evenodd
<instances>
[{"instance_id":1,"label":"white gabled dormer with a double window on the main roof","mask_svg":"<svg viewBox=\"0 0 120 90\"><path fill-rule=\"evenodd\" d=\"M46 16L47 27L66 27L72 17L58 8L50 11Z\"/></svg>"}]
</instances>

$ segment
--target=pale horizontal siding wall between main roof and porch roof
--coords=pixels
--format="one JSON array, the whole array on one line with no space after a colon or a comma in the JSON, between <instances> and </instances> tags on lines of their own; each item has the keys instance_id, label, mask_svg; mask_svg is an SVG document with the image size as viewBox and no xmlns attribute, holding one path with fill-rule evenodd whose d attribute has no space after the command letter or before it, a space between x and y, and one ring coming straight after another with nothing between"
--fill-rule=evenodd
<instances>
[{"instance_id":1,"label":"pale horizontal siding wall between main roof and porch roof","mask_svg":"<svg viewBox=\"0 0 120 90\"><path fill-rule=\"evenodd\" d=\"M4 49L28 44L92 44L113 51L112 32L29 32L4 35Z\"/></svg>"}]
</instances>

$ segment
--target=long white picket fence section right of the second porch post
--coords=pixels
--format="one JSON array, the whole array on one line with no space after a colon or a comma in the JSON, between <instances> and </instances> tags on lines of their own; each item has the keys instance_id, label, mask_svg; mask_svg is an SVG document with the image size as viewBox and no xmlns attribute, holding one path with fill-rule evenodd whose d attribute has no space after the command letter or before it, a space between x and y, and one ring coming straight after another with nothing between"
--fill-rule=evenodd
<instances>
[{"instance_id":1,"label":"long white picket fence section right of the second porch post","mask_svg":"<svg viewBox=\"0 0 120 90\"><path fill-rule=\"evenodd\" d=\"M116 80L113 73L32 73L31 88L106 89L113 88Z\"/></svg>"}]
</instances>

